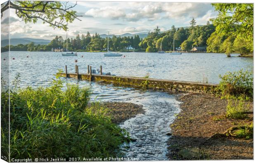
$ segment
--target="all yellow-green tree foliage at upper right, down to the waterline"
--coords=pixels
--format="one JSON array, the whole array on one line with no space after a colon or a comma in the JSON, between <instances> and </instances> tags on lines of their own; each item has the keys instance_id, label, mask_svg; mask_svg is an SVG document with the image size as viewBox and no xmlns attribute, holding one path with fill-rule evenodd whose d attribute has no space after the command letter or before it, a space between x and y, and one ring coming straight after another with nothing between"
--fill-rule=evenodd
<instances>
[{"instance_id":1,"label":"all yellow-green tree foliage at upper right, down to the waterline","mask_svg":"<svg viewBox=\"0 0 256 163\"><path fill-rule=\"evenodd\" d=\"M207 41L207 51L252 54L254 4L213 3L212 5L218 11L218 17L212 19L216 31Z\"/></svg>"}]
</instances>

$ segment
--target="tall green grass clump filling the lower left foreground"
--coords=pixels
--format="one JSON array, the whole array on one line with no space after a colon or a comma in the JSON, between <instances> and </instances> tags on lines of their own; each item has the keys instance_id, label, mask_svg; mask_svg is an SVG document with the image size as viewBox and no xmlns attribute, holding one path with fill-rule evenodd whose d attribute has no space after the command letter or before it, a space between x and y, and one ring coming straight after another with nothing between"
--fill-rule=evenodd
<instances>
[{"instance_id":1,"label":"tall green grass clump filling the lower left foreground","mask_svg":"<svg viewBox=\"0 0 256 163\"><path fill-rule=\"evenodd\" d=\"M11 158L121 156L128 133L99 103L88 106L90 89L63 87L56 76L50 87L11 91Z\"/></svg>"}]
</instances>

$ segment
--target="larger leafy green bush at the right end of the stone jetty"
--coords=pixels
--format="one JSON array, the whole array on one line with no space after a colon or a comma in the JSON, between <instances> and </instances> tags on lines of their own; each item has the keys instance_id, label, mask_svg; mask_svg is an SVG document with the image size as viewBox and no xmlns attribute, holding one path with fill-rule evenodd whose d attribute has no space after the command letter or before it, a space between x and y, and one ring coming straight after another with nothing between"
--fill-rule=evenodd
<instances>
[{"instance_id":1,"label":"larger leafy green bush at the right end of the stone jetty","mask_svg":"<svg viewBox=\"0 0 256 163\"><path fill-rule=\"evenodd\" d=\"M218 90L225 97L246 97L253 98L253 78L248 71L228 72L224 76L219 76L221 81Z\"/></svg>"}]
</instances>

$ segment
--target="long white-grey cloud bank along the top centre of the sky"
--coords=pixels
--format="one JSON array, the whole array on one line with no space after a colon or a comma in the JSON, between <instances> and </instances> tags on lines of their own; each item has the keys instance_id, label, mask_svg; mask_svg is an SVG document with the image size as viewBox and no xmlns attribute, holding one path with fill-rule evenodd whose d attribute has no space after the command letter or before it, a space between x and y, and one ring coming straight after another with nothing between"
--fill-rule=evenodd
<instances>
[{"instance_id":1,"label":"long white-grey cloud bank along the top centre of the sky","mask_svg":"<svg viewBox=\"0 0 256 163\"><path fill-rule=\"evenodd\" d=\"M133 7L128 9L127 6ZM187 17L200 18L204 17L209 11L213 12L213 7L209 3L127 2L119 7L108 5L92 8L85 12L85 15L136 22L141 19L155 21L160 19L184 20Z\"/></svg>"}]
</instances>

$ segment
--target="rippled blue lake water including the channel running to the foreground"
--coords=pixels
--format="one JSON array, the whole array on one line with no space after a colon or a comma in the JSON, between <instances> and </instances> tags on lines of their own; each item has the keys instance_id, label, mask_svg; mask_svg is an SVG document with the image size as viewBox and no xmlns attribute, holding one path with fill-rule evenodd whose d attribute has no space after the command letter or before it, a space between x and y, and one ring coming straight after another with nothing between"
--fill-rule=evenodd
<instances>
[{"instance_id":1,"label":"rippled blue lake water including the channel running to the foreground","mask_svg":"<svg viewBox=\"0 0 256 163\"><path fill-rule=\"evenodd\" d=\"M79 66L80 73L87 72L87 65L103 72L111 72L118 76L184 80L218 83L218 75L240 69L253 71L253 59L242 57L226 57L225 54L183 53L182 55L158 53L122 53L123 57L104 57L104 53L78 52L77 57L62 57L60 52L11 52L10 80L20 73L21 87L47 86L58 69L67 65L68 72L75 71ZM83 57L81 57L83 55ZM28 57L27 57L28 56ZM125 57L124 57L125 56ZM8 61L7 53L1 53L1 64ZM12 60L12 58L15 58ZM75 63L75 59L78 60ZM2 73L5 70L2 69ZM129 158L140 160L166 160L169 125L180 111L175 96L166 92L140 90L130 87L116 87L99 82L88 82L76 79L64 79L68 83L78 83L81 87L92 89L91 100L133 102L142 104L144 114L126 120L121 127L126 128L136 142L130 143L125 149Z\"/></svg>"}]
</instances>

